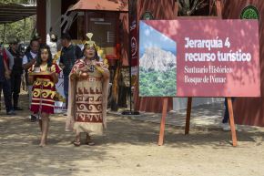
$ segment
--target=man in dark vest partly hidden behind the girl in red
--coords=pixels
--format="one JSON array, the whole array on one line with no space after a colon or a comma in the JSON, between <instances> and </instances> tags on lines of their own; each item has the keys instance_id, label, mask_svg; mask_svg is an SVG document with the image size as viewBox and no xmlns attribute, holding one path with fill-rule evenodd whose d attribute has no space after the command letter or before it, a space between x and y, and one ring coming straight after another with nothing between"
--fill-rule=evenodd
<instances>
[{"instance_id":1,"label":"man in dark vest partly hidden behind the girl in red","mask_svg":"<svg viewBox=\"0 0 264 176\"><path fill-rule=\"evenodd\" d=\"M39 42L36 39L32 39L30 41L30 51L25 52L25 56L23 57L23 68L25 69L25 82L26 82L26 87L28 90L28 96L29 96L29 108L31 105L31 99L32 99L32 85L28 84L27 80L27 70L28 68L32 67L36 63L36 57L37 57L37 52L39 48ZM34 122L36 121L36 116L31 115L31 121Z\"/></svg>"}]
</instances>

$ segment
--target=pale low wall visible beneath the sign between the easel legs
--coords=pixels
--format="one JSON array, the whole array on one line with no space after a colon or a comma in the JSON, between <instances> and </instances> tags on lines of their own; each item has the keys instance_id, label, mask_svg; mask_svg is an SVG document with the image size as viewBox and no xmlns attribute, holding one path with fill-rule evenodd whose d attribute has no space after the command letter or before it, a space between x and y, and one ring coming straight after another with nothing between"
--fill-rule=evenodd
<instances>
[{"instance_id":1,"label":"pale low wall visible beneath the sign between the easel legs","mask_svg":"<svg viewBox=\"0 0 264 176\"><path fill-rule=\"evenodd\" d=\"M192 107L223 101L224 98L192 98ZM188 98L173 98L173 110L187 109Z\"/></svg>"}]
</instances>

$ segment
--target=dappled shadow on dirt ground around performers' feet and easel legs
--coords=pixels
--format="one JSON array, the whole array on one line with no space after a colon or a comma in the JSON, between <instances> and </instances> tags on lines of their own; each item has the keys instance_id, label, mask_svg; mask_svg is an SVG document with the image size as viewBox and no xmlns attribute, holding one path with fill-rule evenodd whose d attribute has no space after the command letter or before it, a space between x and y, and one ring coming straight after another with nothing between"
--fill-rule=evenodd
<instances>
[{"instance_id":1,"label":"dappled shadow on dirt ground around performers' feet and easel legs","mask_svg":"<svg viewBox=\"0 0 264 176\"><path fill-rule=\"evenodd\" d=\"M26 108L26 98L22 98ZM201 110L203 111L203 110ZM203 111L204 113L205 111ZM78 165L82 160L90 160L87 164L99 170L104 160L118 162L113 151L122 152L129 146L137 148L156 148L157 150L193 149L197 146L211 146L213 149L232 148L230 133L221 130L190 129L188 136L180 127L166 127L165 145L158 147L157 138L159 125L157 123L133 120L127 117L109 116L107 131L103 136L95 137L96 146L82 145L74 147L71 143L74 134L65 132L65 117L53 115L50 121L48 145L38 147L40 131L37 123L29 122L28 110L14 117L1 111L0 118L0 171L1 175L70 175L79 171L89 173L90 166ZM239 147L247 148L249 143L261 145L264 130L249 129L238 132Z\"/></svg>"}]
</instances>

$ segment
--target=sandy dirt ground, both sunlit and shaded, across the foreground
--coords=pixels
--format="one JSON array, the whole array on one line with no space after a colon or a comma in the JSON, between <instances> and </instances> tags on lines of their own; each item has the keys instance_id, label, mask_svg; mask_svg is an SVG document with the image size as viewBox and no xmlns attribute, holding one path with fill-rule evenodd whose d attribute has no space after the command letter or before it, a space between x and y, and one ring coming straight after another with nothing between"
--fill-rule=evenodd
<instances>
[{"instance_id":1,"label":"sandy dirt ground, both sunlit and shaded, across the foreground","mask_svg":"<svg viewBox=\"0 0 264 176\"><path fill-rule=\"evenodd\" d=\"M191 129L185 136L182 128L170 126L165 145L157 146L158 124L109 115L96 146L74 147L65 117L54 115L48 145L40 148L38 125L29 122L28 113L0 112L0 175L264 175L264 129L239 131L234 148L229 132Z\"/></svg>"}]
</instances>

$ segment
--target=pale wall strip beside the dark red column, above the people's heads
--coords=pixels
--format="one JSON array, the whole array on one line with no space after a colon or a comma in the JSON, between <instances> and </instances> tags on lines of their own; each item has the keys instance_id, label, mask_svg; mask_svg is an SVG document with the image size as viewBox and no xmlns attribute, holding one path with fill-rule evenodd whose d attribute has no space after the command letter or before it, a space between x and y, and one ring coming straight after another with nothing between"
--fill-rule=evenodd
<instances>
[{"instance_id":1,"label":"pale wall strip beside the dark red column, above the people's heads","mask_svg":"<svg viewBox=\"0 0 264 176\"><path fill-rule=\"evenodd\" d=\"M49 28L52 26L52 32L60 38L60 16L61 16L61 1L62 0L46 0L46 34L49 33Z\"/></svg>"}]
</instances>

